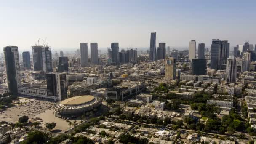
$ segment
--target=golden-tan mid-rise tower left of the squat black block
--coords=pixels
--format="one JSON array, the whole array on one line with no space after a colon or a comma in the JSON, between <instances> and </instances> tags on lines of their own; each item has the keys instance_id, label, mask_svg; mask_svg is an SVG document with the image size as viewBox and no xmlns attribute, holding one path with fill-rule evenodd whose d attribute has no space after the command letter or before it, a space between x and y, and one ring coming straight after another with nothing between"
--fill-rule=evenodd
<instances>
[{"instance_id":1,"label":"golden-tan mid-rise tower left of the squat black block","mask_svg":"<svg viewBox=\"0 0 256 144\"><path fill-rule=\"evenodd\" d=\"M165 59L165 78L176 79L176 60L173 57Z\"/></svg>"}]
</instances>

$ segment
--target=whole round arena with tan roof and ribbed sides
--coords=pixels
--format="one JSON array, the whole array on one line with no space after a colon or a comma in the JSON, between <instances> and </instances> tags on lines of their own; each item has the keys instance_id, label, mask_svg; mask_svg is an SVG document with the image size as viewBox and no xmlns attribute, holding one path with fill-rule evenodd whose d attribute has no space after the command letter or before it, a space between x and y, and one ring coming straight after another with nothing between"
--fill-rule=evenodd
<instances>
[{"instance_id":1,"label":"whole round arena with tan roof and ribbed sides","mask_svg":"<svg viewBox=\"0 0 256 144\"><path fill-rule=\"evenodd\" d=\"M54 106L56 117L77 117L101 106L101 99L91 95L75 96L65 99Z\"/></svg>"}]
</instances>

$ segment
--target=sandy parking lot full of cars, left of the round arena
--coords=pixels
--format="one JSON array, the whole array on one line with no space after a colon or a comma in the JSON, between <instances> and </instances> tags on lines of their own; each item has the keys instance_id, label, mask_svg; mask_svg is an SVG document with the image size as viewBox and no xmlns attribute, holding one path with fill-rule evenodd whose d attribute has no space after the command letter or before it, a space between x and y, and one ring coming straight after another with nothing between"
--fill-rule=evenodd
<instances>
[{"instance_id":1,"label":"sandy parking lot full of cars, left of the round arena","mask_svg":"<svg viewBox=\"0 0 256 144\"><path fill-rule=\"evenodd\" d=\"M0 121L16 123L19 117L27 115L29 119L46 110L53 109L54 103L49 101L19 98L19 102L15 101L15 106L0 112Z\"/></svg>"}]
</instances>

